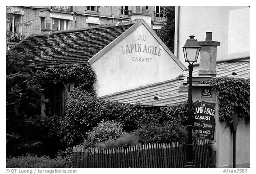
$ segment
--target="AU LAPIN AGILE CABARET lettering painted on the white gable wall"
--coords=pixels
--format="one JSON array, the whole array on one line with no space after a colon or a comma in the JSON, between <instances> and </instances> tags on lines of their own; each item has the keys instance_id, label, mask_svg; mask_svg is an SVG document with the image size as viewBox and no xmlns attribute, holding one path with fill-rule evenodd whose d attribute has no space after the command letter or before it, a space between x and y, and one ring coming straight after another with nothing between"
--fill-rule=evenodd
<instances>
[{"instance_id":1,"label":"AU LAPIN AGILE CABARET lettering painted on the white gable wall","mask_svg":"<svg viewBox=\"0 0 256 174\"><path fill-rule=\"evenodd\" d=\"M139 35L138 40L146 41L146 35ZM149 53L157 56L161 56L162 49L146 44L130 44L126 46L121 46L122 54L129 53ZM152 62L152 57L132 57L133 62Z\"/></svg>"}]
</instances>

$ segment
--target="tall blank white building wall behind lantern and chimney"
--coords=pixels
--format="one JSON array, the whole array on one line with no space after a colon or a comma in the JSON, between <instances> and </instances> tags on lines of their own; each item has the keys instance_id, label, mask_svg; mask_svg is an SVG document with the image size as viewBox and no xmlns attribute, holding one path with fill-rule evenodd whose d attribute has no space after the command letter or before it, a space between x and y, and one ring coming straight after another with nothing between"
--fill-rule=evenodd
<instances>
[{"instance_id":1,"label":"tall blank white building wall behind lantern and chimney","mask_svg":"<svg viewBox=\"0 0 256 174\"><path fill-rule=\"evenodd\" d=\"M180 6L178 10L175 55L184 65L187 63L184 62L182 46L189 35L204 41L206 32L212 32L212 40L220 42L217 61L250 56L248 6Z\"/></svg>"}]
</instances>

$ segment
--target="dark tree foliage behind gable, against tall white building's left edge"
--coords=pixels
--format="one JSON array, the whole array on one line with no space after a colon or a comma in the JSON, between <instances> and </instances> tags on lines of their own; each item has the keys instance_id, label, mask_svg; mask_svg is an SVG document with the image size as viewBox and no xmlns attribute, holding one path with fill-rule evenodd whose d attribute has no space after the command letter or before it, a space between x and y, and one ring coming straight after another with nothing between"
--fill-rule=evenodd
<instances>
[{"instance_id":1,"label":"dark tree foliage behind gable, against tall white building's left edge","mask_svg":"<svg viewBox=\"0 0 256 174\"><path fill-rule=\"evenodd\" d=\"M166 22L157 34L165 45L174 53L175 6L165 6Z\"/></svg>"}]
</instances>

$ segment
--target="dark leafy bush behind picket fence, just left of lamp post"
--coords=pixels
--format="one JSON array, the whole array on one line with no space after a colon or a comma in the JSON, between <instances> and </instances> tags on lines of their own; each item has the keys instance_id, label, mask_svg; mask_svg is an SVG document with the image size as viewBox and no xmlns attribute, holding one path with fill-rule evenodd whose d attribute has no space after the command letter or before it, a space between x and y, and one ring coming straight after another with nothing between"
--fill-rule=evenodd
<instances>
[{"instance_id":1,"label":"dark leafy bush behind picket fence, just left of lamp post","mask_svg":"<svg viewBox=\"0 0 256 174\"><path fill-rule=\"evenodd\" d=\"M187 139L187 132L177 121L168 121L163 125L158 123L150 123L144 125L135 131L139 137L139 143L171 143L182 142L185 143Z\"/></svg>"}]
</instances>

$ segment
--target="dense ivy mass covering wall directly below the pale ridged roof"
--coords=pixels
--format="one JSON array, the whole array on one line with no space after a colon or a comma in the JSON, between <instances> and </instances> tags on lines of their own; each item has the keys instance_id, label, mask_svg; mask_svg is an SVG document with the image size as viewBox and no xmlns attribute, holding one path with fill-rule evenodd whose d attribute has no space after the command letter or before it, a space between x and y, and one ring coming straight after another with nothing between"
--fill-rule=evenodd
<instances>
[{"instance_id":1,"label":"dense ivy mass covering wall directly below the pale ridged roof","mask_svg":"<svg viewBox=\"0 0 256 174\"><path fill-rule=\"evenodd\" d=\"M80 144L90 131L101 121L114 120L123 125L124 131L130 132L143 125L177 122L187 125L188 102L170 107L148 109L140 103L129 104L100 100L85 90L75 88L67 103L68 114L52 116L47 119L51 127L50 136L56 135L67 146Z\"/></svg>"}]
</instances>

